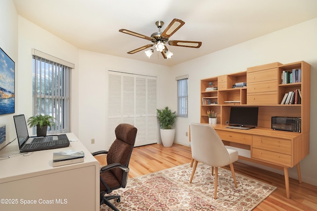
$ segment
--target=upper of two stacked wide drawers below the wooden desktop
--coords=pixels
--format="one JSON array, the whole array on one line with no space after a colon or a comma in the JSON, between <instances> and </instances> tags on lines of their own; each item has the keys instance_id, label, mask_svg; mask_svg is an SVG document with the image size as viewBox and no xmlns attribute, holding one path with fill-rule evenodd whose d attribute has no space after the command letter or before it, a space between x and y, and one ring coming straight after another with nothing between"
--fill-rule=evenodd
<instances>
[{"instance_id":1,"label":"upper of two stacked wide drawers below the wooden desktop","mask_svg":"<svg viewBox=\"0 0 317 211\"><path fill-rule=\"evenodd\" d=\"M253 135L252 147L291 155L291 140Z\"/></svg>"}]
</instances>

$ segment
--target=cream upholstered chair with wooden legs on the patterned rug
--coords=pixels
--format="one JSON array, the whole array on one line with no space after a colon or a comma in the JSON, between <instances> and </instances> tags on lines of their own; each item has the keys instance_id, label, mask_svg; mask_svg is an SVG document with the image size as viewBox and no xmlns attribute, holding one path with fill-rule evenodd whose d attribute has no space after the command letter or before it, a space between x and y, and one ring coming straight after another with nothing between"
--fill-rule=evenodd
<instances>
[{"instance_id":1,"label":"cream upholstered chair with wooden legs on the patterned rug","mask_svg":"<svg viewBox=\"0 0 317 211\"><path fill-rule=\"evenodd\" d=\"M211 174L215 169L214 199L217 198L218 167L230 165L233 181L237 188L236 176L232 163L238 160L238 152L227 149L216 131L206 124L190 124L192 156L195 160L190 183L192 183L198 162L211 166Z\"/></svg>"}]
</instances>

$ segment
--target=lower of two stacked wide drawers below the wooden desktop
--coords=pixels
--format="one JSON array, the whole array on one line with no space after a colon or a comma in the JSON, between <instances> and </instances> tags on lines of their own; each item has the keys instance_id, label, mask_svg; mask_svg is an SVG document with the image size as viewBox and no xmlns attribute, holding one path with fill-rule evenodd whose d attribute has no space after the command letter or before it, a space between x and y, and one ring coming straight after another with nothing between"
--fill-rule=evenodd
<instances>
[{"instance_id":1,"label":"lower of two stacked wide drawers below the wooden desktop","mask_svg":"<svg viewBox=\"0 0 317 211\"><path fill-rule=\"evenodd\" d=\"M291 156L264 149L252 148L252 157L262 161L271 162L281 166L291 167Z\"/></svg>"}]
</instances>

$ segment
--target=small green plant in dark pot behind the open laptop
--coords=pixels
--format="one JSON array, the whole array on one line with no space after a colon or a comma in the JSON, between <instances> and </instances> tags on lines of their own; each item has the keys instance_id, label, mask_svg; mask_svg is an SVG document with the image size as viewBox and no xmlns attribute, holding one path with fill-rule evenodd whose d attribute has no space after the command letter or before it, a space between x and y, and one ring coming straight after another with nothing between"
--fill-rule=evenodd
<instances>
[{"instance_id":1,"label":"small green plant in dark pot behind the open laptop","mask_svg":"<svg viewBox=\"0 0 317 211\"><path fill-rule=\"evenodd\" d=\"M30 117L27 120L29 127L36 126L36 133L37 136L46 136L48 126L52 127L54 123L54 118L50 115L35 115L33 117Z\"/></svg>"}]
</instances>

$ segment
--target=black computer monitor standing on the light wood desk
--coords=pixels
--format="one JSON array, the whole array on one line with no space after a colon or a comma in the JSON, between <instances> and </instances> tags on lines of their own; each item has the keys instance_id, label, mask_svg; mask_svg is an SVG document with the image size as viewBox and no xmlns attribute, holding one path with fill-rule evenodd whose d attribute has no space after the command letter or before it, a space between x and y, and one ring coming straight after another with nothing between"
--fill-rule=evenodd
<instances>
[{"instance_id":1,"label":"black computer monitor standing on the light wood desk","mask_svg":"<svg viewBox=\"0 0 317 211\"><path fill-rule=\"evenodd\" d=\"M254 128L258 126L259 107L230 108L229 125L235 127Z\"/></svg>"}]
</instances>

